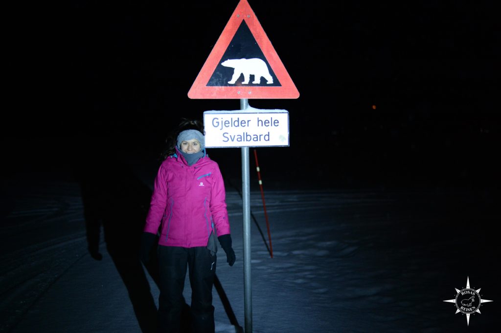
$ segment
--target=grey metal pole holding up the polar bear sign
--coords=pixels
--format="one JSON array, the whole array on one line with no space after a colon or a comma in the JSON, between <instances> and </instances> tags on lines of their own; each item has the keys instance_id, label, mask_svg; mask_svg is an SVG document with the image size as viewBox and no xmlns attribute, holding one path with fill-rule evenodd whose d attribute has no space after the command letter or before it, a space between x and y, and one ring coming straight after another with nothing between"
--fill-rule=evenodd
<instances>
[{"instance_id":1,"label":"grey metal pole holding up the polar bear sign","mask_svg":"<svg viewBox=\"0 0 501 333\"><path fill-rule=\"evenodd\" d=\"M240 99L240 109L248 106L248 99ZM242 214L243 214L243 302L245 333L252 333L252 279L250 274L250 178L249 147L242 150Z\"/></svg>"}]
</instances>

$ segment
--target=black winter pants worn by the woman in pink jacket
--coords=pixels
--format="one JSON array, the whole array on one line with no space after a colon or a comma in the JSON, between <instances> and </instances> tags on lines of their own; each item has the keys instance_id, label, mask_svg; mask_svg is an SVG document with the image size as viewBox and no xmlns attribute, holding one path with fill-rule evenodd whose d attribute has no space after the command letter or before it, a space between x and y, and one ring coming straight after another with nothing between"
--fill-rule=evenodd
<instances>
[{"instance_id":1,"label":"black winter pants worn by the woman in pink jacket","mask_svg":"<svg viewBox=\"0 0 501 333\"><path fill-rule=\"evenodd\" d=\"M158 298L159 333L181 332L181 312L186 268L191 285L191 331L214 332L212 285L216 270L216 256L205 246L158 246L160 269L160 296Z\"/></svg>"}]
</instances>

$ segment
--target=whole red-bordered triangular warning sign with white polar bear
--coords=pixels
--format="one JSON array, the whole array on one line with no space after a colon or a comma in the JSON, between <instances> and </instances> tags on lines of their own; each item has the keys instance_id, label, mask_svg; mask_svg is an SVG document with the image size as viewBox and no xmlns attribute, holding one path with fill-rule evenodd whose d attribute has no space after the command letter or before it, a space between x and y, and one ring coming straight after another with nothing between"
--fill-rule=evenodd
<instances>
[{"instance_id":1,"label":"whole red-bordered triangular warning sign with white polar bear","mask_svg":"<svg viewBox=\"0 0 501 333\"><path fill-rule=\"evenodd\" d=\"M188 97L299 97L298 89L247 0L238 2Z\"/></svg>"}]
</instances>

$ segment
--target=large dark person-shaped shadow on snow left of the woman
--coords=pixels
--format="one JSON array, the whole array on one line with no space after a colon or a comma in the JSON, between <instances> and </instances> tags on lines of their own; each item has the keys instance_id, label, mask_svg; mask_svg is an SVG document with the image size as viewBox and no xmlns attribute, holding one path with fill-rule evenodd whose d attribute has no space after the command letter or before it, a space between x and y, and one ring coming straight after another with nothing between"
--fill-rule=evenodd
<instances>
[{"instance_id":1,"label":"large dark person-shaped shadow on snow left of the woman","mask_svg":"<svg viewBox=\"0 0 501 333\"><path fill-rule=\"evenodd\" d=\"M139 256L151 190L104 138L82 142L75 153L73 165L81 187L89 253L102 259L102 229L106 249L127 288L142 332L154 332L157 308ZM150 262L145 267L157 282L156 260Z\"/></svg>"}]
</instances>

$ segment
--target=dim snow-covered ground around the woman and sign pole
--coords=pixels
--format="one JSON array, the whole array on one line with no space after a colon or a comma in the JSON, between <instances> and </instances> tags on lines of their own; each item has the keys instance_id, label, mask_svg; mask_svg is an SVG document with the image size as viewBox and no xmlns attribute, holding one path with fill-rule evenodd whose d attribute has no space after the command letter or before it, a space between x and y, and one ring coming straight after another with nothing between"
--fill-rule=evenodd
<instances>
[{"instance_id":1,"label":"dim snow-covered ground around the woman and sign pole","mask_svg":"<svg viewBox=\"0 0 501 333\"><path fill-rule=\"evenodd\" d=\"M87 254L78 183L4 183L2 331L140 332L127 289L101 242ZM9 187L11 186L11 187ZM16 190L16 188L18 190ZM26 187L25 187L26 188ZM5 194L5 192L4 192ZM268 190L270 253L261 193L251 193L255 332L491 331L499 307L491 193L461 191ZM10 204L9 204L10 202ZM219 253L217 276L244 327L241 196L228 188L237 261ZM466 279L481 314L455 313ZM150 276L151 293L158 289ZM189 301L189 284L186 283ZM217 332L234 332L214 289Z\"/></svg>"}]
</instances>

